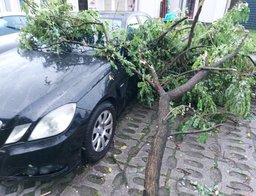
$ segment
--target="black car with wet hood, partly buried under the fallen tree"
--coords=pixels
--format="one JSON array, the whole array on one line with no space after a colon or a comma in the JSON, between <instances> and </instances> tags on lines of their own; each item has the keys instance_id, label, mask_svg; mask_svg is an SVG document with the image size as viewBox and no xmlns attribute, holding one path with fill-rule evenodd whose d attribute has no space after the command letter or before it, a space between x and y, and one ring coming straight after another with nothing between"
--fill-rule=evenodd
<instances>
[{"instance_id":1,"label":"black car with wet hood, partly buried under the fallen tree","mask_svg":"<svg viewBox=\"0 0 256 196\"><path fill-rule=\"evenodd\" d=\"M140 12L99 14L122 28L149 18ZM136 87L117 66L90 50L57 55L13 49L0 55L0 179L60 176L81 159L101 159L132 94L128 89Z\"/></svg>"}]
</instances>

